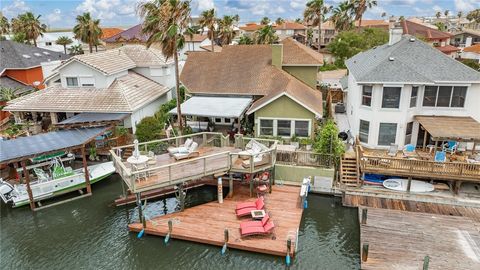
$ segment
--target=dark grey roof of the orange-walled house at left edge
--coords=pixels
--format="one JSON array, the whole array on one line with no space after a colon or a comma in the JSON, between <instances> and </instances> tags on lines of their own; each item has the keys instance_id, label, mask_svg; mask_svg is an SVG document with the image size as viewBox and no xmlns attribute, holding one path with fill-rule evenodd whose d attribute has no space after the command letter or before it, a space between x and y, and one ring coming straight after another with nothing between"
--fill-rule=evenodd
<instances>
[{"instance_id":1,"label":"dark grey roof of the orange-walled house at left edge","mask_svg":"<svg viewBox=\"0 0 480 270\"><path fill-rule=\"evenodd\" d=\"M28 69L40 66L42 62L70 58L61 52L54 52L21 44L10 40L0 41L0 73L5 69Z\"/></svg>"}]
</instances>

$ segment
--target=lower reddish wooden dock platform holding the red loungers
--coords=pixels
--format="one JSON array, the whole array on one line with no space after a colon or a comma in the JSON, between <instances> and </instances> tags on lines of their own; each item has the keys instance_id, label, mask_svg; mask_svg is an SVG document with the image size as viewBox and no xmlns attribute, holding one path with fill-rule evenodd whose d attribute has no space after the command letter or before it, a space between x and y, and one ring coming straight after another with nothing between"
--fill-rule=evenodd
<instances>
[{"instance_id":1,"label":"lower reddish wooden dock platform holding the red loungers","mask_svg":"<svg viewBox=\"0 0 480 270\"><path fill-rule=\"evenodd\" d=\"M171 238L223 246L224 230L229 231L228 247L251 252L285 256L287 239L292 240L292 255L303 213L299 208L300 187L273 186L272 193L265 197L265 209L275 224L270 236L240 237L240 223L250 218L238 219L235 206L241 201L254 201L249 198L248 186L236 184L234 197L225 198L223 204L210 202L185 209L183 212L152 218L147 222L146 234L165 236L168 233L167 222L175 220ZM139 232L141 223L130 224L129 230ZM174 240L175 241L175 240ZM219 248L220 252L220 248Z\"/></svg>"}]
</instances>

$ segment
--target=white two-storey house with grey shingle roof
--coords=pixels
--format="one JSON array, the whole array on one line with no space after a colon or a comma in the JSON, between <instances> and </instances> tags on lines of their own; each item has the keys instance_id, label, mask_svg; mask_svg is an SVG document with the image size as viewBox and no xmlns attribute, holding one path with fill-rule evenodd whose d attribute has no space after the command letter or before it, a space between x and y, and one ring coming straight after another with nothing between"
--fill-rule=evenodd
<instances>
[{"instance_id":1,"label":"white two-storey house with grey shingle roof","mask_svg":"<svg viewBox=\"0 0 480 270\"><path fill-rule=\"evenodd\" d=\"M388 44L355 55L346 66L346 116L364 146L425 146L433 143L426 121L480 121L480 73L414 36L391 31ZM447 126L450 133L467 128Z\"/></svg>"}]
</instances>

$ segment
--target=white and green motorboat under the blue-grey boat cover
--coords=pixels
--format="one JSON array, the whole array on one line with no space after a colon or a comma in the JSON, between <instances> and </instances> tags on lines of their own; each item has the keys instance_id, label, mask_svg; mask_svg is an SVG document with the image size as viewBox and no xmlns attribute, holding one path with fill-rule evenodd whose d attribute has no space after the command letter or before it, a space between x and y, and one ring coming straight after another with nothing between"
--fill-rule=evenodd
<instances>
[{"instance_id":1,"label":"white and green motorboat under the blue-grey boat cover","mask_svg":"<svg viewBox=\"0 0 480 270\"><path fill-rule=\"evenodd\" d=\"M48 165L48 162L27 168L32 169L37 176L35 181L30 182L33 200L35 202L86 187L83 168L73 170L71 167L63 165L63 161L66 159L62 159L59 156L49 158L51 158L49 161L50 174L40 168L41 166L45 166L46 163ZM112 175L115 172L115 167L113 166L113 161L109 161L88 166L87 170L90 176L90 184L94 184ZM4 203L11 203L14 208L30 203L26 184L12 185L3 181L1 178L0 197Z\"/></svg>"}]
</instances>

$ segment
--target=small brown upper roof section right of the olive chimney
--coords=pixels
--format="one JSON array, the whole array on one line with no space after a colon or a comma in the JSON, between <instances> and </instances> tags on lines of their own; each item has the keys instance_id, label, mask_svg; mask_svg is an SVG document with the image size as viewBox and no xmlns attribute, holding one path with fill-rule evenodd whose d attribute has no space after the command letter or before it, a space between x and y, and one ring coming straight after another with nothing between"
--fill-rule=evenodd
<instances>
[{"instance_id":1,"label":"small brown upper roof section right of the olive chimney","mask_svg":"<svg viewBox=\"0 0 480 270\"><path fill-rule=\"evenodd\" d=\"M323 65L323 55L294 40L286 38L283 44L284 65Z\"/></svg>"}]
</instances>

